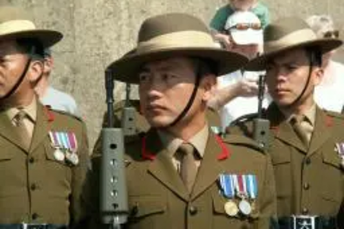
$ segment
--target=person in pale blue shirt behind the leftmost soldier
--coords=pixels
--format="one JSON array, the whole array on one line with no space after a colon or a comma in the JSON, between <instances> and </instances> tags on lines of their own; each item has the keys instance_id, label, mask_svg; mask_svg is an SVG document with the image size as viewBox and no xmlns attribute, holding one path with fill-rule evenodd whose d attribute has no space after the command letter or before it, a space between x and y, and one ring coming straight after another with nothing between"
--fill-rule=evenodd
<instances>
[{"instance_id":1,"label":"person in pale blue shirt behind the leftmost soldier","mask_svg":"<svg viewBox=\"0 0 344 229\"><path fill-rule=\"evenodd\" d=\"M44 50L44 70L39 82L35 87L36 94L43 105L48 105L52 109L58 111L65 111L71 113L74 116L79 116L76 101L69 94L59 91L50 86L49 77L54 67L54 58L52 57L52 51L47 48Z\"/></svg>"}]
</instances>

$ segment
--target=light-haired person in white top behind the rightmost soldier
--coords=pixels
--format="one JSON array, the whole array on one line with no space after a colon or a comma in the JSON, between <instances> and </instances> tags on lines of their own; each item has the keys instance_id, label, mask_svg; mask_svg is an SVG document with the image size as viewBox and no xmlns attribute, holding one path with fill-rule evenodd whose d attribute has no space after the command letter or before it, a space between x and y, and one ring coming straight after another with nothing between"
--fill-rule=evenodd
<instances>
[{"instance_id":1,"label":"light-haired person in white top behind the rightmost soldier","mask_svg":"<svg viewBox=\"0 0 344 229\"><path fill-rule=\"evenodd\" d=\"M319 39L337 39L339 36L329 15L312 15L306 21ZM314 99L323 109L343 113L344 65L332 60L335 52L336 50L323 55L323 80L314 89Z\"/></svg>"}]
</instances>

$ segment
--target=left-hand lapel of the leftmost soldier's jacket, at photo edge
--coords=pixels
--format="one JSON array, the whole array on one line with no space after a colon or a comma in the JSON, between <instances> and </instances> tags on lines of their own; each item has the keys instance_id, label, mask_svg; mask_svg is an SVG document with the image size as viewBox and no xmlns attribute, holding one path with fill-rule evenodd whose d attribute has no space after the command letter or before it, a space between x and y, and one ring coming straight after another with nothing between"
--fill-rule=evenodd
<instances>
[{"instance_id":1,"label":"left-hand lapel of the leftmost soldier's jacket, at photo edge","mask_svg":"<svg viewBox=\"0 0 344 229\"><path fill-rule=\"evenodd\" d=\"M19 135L16 133L16 131L14 131L14 127L12 126L10 119L4 111L0 112L0 135L16 146L19 146L26 153L23 142L21 142Z\"/></svg>"}]
</instances>

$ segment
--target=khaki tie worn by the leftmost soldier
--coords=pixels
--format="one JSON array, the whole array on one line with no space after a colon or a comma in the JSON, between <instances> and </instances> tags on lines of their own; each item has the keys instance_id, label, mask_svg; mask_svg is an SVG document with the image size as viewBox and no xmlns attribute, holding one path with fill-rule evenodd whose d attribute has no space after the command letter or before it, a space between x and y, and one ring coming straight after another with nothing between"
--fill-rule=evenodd
<instances>
[{"instance_id":1,"label":"khaki tie worn by the leftmost soldier","mask_svg":"<svg viewBox=\"0 0 344 229\"><path fill-rule=\"evenodd\" d=\"M23 146L26 150L29 150L31 144L31 136L29 134L28 128L25 126L25 118L28 118L28 113L23 110L19 110L19 112L13 118L13 123L15 130L21 138L21 142L23 142Z\"/></svg>"}]
</instances>

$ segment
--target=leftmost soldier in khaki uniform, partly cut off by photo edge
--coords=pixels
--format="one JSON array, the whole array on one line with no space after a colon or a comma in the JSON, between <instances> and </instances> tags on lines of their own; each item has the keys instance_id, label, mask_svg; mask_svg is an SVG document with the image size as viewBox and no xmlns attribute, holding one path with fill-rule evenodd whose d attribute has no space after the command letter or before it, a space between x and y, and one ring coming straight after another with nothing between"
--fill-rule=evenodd
<instances>
[{"instance_id":1,"label":"leftmost soldier in khaki uniform, partly cut off by photo edge","mask_svg":"<svg viewBox=\"0 0 344 229\"><path fill-rule=\"evenodd\" d=\"M20 8L0 8L0 228L67 228L83 219L85 124L34 94L43 49L62 39ZM58 99L58 98L56 98Z\"/></svg>"}]
</instances>

